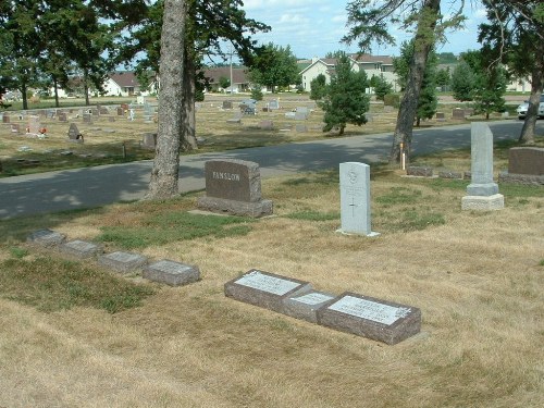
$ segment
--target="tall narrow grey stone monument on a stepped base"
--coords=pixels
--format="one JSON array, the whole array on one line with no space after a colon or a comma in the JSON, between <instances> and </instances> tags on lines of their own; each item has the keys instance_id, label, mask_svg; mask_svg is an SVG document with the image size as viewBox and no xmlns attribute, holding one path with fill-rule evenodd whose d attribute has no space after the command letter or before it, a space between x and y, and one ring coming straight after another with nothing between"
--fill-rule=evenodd
<instances>
[{"instance_id":1,"label":"tall narrow grey stone monument on a stepped base","mask_svg":"<svg viewBox=\"0 0 544 408\"><path fill-rule=\"evenodd\" d=\"M461 199L461 209L499 210L505 202L493 181L493 133L483 122L472 122L470 131L471 183L467 186L467 196Z\"/></svg>"}]
</instances>

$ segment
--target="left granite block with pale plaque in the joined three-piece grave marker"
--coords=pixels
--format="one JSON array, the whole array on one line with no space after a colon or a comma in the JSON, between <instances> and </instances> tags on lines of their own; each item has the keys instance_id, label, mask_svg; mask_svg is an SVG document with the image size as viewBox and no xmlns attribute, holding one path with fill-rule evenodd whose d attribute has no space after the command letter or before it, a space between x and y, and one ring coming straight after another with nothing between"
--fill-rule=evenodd
<instances>
[{"instance_id":1,"label":"left granite block with pale plaque in the joined three-piece grave marker","mask_svg":"<svg viewBox=\"0 0 544 408\"><path fill-rule=\"evenodd\" d=\"M252 269L225 283L224 290L226 297L284 313L284 300L310 292L311 284Z\"/></svg>"}]
</instances>

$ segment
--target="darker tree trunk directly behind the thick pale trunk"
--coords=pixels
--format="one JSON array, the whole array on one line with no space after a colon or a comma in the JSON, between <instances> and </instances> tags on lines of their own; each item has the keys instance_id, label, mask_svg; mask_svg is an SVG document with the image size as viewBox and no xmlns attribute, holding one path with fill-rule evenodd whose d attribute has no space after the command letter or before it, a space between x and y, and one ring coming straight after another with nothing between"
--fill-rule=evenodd
<instances>
[{"instance_id":1,"label":"darker tree trunk directly behind the thick pale trunk","mask_svg":"<svg viewBox=\"0 0 544 408\"><path fill-rule=\"evenodd\" d=\"M198 149L195 134L196 67L193 58L193 50L186 48L183 76L183 150Z\"/></svg>"}]
</instances>

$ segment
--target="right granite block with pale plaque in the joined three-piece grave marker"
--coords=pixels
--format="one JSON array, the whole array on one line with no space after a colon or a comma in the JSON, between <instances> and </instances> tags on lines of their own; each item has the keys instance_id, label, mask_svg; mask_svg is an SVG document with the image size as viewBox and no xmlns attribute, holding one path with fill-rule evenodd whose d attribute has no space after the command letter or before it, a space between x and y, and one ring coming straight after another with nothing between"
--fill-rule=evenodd
<instances>
[{"instance_id":1,"label":"right granite block with pale plaque in the joined three-piece grave marker","mask_svg":"<svg viewBox=\"0 0 544 408\"><path fill-rule=\"evenodd\" d=\"M349 292L322 306L317 314L323 326L390 345L421 330L420 309Z\"/></svg>"}]
</instances>

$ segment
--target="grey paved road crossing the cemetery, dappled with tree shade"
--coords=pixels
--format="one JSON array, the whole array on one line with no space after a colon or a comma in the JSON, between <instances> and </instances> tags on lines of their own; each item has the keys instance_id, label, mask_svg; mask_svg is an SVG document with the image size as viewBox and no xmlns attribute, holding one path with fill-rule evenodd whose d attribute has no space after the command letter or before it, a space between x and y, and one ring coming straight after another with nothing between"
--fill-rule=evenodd
<instances>
[{"instance_id":1,"label":"grey paved road crossing the cemetery, dappled with tree shade","mask_svg":"<svg viewBox=\"0 0 544 408\"><path fill-rule=\"evenodd\" d=\"M516 139L522 122L491 123L495 140ZM537 123L542 133L544 121ZM336 168L346 161L376 162L388 154L392 134L334 138L319 141L184 156L181 191L205 188L203 163L230 158L259 163L262 177ZM412 150L422 154L470 146L470 125L416 131ZM90 208L144 197L152 161L63 170L0 180L0 219Z\"/></svg>"}]
</instances>

